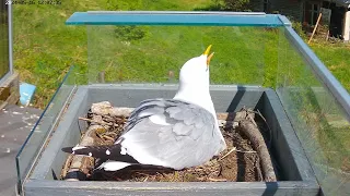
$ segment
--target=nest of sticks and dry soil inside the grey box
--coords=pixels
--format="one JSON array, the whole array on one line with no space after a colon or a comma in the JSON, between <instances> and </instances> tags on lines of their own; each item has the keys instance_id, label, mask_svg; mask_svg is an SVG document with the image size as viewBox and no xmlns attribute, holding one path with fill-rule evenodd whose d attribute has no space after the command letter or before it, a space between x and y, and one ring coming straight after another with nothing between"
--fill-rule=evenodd
<instances>
[{"instance_id":1,"label":"nest of sticks and dry soil inside the grey box","mask_svg":"<svg viewBox=\"0 0 350 196\"><path fill-rule=\"evenodd\" d=\"M86 118L88 130L80 145L110 145L121 135L131 108L115 108L107 101L93 103ZM220 130L228 148L202 166L175 171L162 167L131 166L116 172L95 170L98 159L70 155L62 167L61 180L128 182L256 182L277 181L265 140L269 128L259 113L243 108L236 113L218 113ZM262 132L265 130L265 132ZM265 135L265 138L261 134ZM71 173L79 172L81 175ZM81 177L83 176L83 177Z\"/></svg>"}]
</instances>

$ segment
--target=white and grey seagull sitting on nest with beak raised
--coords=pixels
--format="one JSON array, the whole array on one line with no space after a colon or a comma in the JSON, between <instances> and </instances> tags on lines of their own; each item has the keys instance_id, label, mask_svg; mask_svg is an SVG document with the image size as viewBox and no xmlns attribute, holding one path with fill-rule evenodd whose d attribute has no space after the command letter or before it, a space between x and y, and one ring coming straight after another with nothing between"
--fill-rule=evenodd
<instances>
[{"instance_id":1,"label":"white and grey seagull sitting on nest with beak raised","mask_svg":"<svg viewBox=\"0 0 350 196\"><path fill-rule=\"evenodd\" d=\"M62 151L98 158L97 169L117 171L144 164L183 170L206 163L226 148L210 96L211 45L180 69L173 99L148 99L131 112L113 145L75 146Z\"/></svg>"}]
</instances>

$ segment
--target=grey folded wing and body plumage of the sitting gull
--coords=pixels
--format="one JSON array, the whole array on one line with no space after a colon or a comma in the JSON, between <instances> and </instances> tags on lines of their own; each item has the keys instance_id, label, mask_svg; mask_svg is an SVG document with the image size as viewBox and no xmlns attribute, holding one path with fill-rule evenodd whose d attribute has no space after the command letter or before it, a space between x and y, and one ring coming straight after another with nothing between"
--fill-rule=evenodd
<instances>
[{"instance_id":1,"label":"grey folded wing and body plumage of the sitting gull","mask_svg":"<svg viewBox=\"0 0 350 196\"><path fill-rule=\"evenodd\" d=\"M120 143L140 163L174 169L199 166L224 143L206 109L173 99L150 99L131 113Z\"/></svg>"}]
</instances>

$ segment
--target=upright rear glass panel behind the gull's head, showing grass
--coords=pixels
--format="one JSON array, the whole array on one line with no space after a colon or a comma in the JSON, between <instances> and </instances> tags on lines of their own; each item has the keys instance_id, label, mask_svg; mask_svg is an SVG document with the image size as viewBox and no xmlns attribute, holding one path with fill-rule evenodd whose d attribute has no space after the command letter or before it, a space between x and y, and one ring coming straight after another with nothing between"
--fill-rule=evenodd
<instances>
[{"instance_id":1,"label":"upright rear glass panel behind the gull's head, showing grass","mask_svg":"<svg viewBox=\"0 0 350 196\"><path fill-rule=\"evenodd\" d=\"M88 36L92 84L173 83L187 60L212 45L212 84L261 86L270 77L264 65L276 64L279 33L248 26L91 25Z\"/></svg>"}]
</instances>

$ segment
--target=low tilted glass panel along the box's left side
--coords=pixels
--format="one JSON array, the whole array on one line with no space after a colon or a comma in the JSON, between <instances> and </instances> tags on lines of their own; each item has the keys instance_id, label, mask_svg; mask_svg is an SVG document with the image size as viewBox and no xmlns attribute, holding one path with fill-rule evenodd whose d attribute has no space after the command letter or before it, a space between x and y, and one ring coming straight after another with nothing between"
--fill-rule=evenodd
<instances>
[{"instance_id":1,"label":"low tilted glass panel along the box's left side","mask_svg":"<svg viewBox=\"0 0 350 196\"><path fill-rule=\"evenodd\" d=\"M31 167L35 163L44 142L56 127L56 121L59 120L59 115L63 112L66 102L74 89L75 74L71 68L16 156L19 191L21 191L23 180L28 174Z\"/></svg>"}]
</instances>

